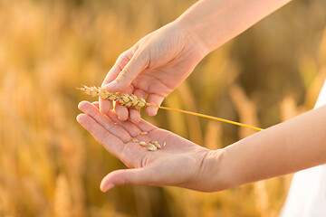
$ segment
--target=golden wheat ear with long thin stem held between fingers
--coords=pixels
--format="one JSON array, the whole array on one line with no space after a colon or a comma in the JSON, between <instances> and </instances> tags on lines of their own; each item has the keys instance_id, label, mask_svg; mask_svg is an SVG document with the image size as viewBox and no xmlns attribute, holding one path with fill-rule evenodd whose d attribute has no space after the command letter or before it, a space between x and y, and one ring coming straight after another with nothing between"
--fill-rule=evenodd
<instances>
[{"instance_id":1,"label":"golden wheat ear with long thin stem held between fingers","mask_svg":"<svg viewBox=\"0 0 326 217\"><path fill-rule=\"evenodd\" d=\"M148 103L145 99L143 98L139 98L134 94L127 94L127 93L112 93L109 92L108 90L105 90L103 88L96 88L96 87L87 87L87 86L83 86L83 88L81 88L80 90L82 90L84 93L91 95L92 97L101 97L101 99L109 99L111 101L117 101L119 102L122 106L125 107L133 107L134 109L141 109L143 107L156 107L158 109L166 109L166 110L172 110L172 111L177 111L177 112L181 112L181 113L185 113L188 115L194 115L194 116L198 116L198 117L202 117L202 118L209 118L209 119L214 119L214 120L218 120L221 122L225 122L225 123L229 123L229 124L233 124L233 125L237 125L237 126L241 126L241 127L248 127L248 128L252 128L258 131L263 130L262 128L259 127L253 127L250 125L246 125L243 123L239 123L239 122L235 122L232 120L228 120L225 118L216 118L213 116L208 116L208 115L203 115L200 113L196 113L196 112L192 112L192 111L187 111L187 110L181 110L181 109L172 109L172 108L168 108L168 107L161 107L161 106L157 106L157 105L153 105Z\"/></svg>"}]
</instances>

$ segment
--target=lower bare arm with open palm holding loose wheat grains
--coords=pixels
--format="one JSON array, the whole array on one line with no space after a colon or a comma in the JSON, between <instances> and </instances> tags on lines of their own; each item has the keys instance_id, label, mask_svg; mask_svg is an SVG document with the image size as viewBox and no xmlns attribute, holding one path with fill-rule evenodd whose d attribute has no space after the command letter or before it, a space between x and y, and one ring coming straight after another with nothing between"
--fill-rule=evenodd
<instances>
[{"instance_id":1,"label":"lower bare arm with open palm holding loose wheat grains","mask_svg":"<svg viewBox=\"0 0 326 217\"><path fill-rule=\"evenodd\" d=\"M145 120L120 121L101 113L98 102L82 101L77 121L129 169L116 170L101 181L101 191L117 185L179 186L216 192L326 163L326 106L264 129L223 149L208 150ZM139 136L142 131L147 136ZM277 137L275 136L277 135ZM313 135L313 136L312 136ZM152 152L139 143L157 140Z\"/></svg>"}]
</instances>

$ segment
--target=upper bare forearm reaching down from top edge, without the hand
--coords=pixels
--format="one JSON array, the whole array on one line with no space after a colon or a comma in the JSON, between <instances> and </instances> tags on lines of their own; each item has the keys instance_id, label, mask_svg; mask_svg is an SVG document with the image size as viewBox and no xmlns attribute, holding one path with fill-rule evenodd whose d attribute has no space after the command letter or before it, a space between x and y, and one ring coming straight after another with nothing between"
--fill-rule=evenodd
<instances>
[{"instance_id":1,"label":"upper bare forearm reaching down from top edge, without the hand","mask_svg":"<svg viewBox=\"0 0 326 217\"><path fill-rule=\"evenodd\" d=\"M243 33L291 0L201 0L182 14L184 24L208 53Z\"/></svg>"}]
</instances>

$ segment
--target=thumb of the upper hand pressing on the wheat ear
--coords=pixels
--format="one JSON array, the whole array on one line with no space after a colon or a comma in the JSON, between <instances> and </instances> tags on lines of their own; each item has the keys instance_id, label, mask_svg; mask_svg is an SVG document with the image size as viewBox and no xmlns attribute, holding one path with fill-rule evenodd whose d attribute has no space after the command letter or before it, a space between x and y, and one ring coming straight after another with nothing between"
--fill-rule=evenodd
<instances>
[{"instance_id":1,"label":"thumb of the upper hand pressing on the wheat ear","mask_svg":"<svg viewBox=\"0 0 326 217\"><path fill-rule=\"evenodd\" d=\"M127 65L120 71L118 77L105 85L110 92L125 90L130 83L148 66L149 59L145 52L135 52Z\"/></svg>"}]
</instances>

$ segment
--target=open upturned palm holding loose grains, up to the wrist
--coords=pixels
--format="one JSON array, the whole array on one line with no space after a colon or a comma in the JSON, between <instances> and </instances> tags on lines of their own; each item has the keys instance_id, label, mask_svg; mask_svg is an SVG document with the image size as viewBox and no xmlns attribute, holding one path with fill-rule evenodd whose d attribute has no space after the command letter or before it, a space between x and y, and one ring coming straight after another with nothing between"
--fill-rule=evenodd
<instances>
[{"instance_id":1,"label":"open upturned palm holding loose grains, up to the wrist","mask_svg":"<svg viewBox=\"0 0 326 217\"><path fill-rule=\"evenodd\" d=\"M98 107L98 102L82 101L79 109L84 114L77 117L78 122L112 155L131 168L106 175L101 181L101 191L125 184L173 185L205 192L216 190L217 183L212 178L212 168L216 169L216 152L144 120L138 123L120 121L115 113L110 112L107 116ZM140 136L143 131L148 135ZM132 142L134 137L147 144L157 140L162 149L149 151L138 142Z\"/></svg>"}]
</instances>

